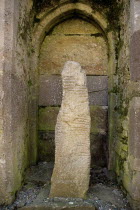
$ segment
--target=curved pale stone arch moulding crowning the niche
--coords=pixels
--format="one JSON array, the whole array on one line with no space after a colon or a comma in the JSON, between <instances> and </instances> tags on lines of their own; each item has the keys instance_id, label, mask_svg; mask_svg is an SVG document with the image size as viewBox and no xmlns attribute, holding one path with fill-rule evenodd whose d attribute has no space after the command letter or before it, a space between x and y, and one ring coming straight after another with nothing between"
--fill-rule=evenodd
<instances>
[{"instance_id":1,"label":"curved pale stone arch moulding crowning the niche","mask_svg":"<svg viewBox=\"0 0 140 210\"><path fill-rule=\"evenodd\" d=\"M54 25L60 22L60 19L64 19L73 12L82 13L83 16L90 16L90 19L94 19L103 31L107 28L107 21L105 21L105 18L97 11L93 11L89 5L83 3L67 3L60 5L58 8L43 15L43 17L40 17L40 23L34 31L34 39L37 38L36 40L41 43L45 31L49 31Z\"/></svg>"}]
</instances>

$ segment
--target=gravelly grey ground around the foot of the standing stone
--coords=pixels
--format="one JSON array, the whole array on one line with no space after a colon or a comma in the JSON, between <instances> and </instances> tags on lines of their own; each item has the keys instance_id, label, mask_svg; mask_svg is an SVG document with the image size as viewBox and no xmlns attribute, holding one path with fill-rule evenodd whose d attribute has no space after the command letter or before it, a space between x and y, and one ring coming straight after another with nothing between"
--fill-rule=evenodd
<instances>
[{"instance_id":1,"label":"gravelly grey ground around the foot of the standing stone","mask_svg":"<svg viewBox=\"0 0 140 210\"><path fill-rule=\"evenodd\" d=\"M49 198L53 163L42 162L27 170L25 184L15 202L0 210L131 210L129 203L106 168L91 170L86 199Z\"/></svg>"}]
</instances>

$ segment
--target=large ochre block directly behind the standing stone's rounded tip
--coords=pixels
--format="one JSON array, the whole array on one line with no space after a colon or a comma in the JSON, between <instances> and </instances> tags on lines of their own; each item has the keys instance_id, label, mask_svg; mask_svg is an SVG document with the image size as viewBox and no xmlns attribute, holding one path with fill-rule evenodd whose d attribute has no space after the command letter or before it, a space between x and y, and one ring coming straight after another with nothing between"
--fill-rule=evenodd
<instances>
[{"instance_id":1,"label":"large ochre block directly behind the standing stone's rounded tip","mask_svg":"<svg viewBox=\"0 0 140 210\"><path fill-rule=\"evenodd\" d=\"M40 74L60 74L64 63L74 60L88 75L107 75L107 46L103 37L50 35L42 44Z\"/></svg>"}]
</instances>

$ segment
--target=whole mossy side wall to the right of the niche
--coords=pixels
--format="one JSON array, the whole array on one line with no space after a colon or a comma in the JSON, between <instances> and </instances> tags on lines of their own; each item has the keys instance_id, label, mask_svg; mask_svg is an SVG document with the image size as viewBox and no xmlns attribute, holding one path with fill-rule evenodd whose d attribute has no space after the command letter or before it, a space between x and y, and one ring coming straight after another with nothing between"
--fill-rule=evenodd
<instances>
[{"instance_id":1,"label":"whole mossy side wall to the right of the niche","mask_svg":"<svg viewBox=\"0 0 140 210\"><path fill-rule=\"evenodd\" d=\"M116 171L120 185L129 195L133 209L140 204L139 186L139 3L122 1L117 32L117 65L112 110L110 168ZM131 15L131 16L130 16ZM115 153L113 148L115 148ZM115 155L114 155L115 154ZM114 158L113 158L114 156Z\"/></svg>"}]
</instances>

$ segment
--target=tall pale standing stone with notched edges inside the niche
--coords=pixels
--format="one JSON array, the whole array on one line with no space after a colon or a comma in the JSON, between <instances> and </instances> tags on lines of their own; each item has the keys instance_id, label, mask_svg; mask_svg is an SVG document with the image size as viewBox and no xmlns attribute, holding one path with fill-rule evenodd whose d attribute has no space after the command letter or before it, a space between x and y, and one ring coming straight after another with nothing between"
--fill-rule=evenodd
<instances>
[{"instance_id":1,"label":"tall pale standing stone with notched edges inside the niche","mask_svg":"<svg viewBox=\"0 0 140 210\"><path fill-rule=\"evenodd\" d=\"M50 197L84 198L90 178L90 111L86 75L79 63L62 70L63 98L55 127Z\"/></svg>"}]
</instances>

